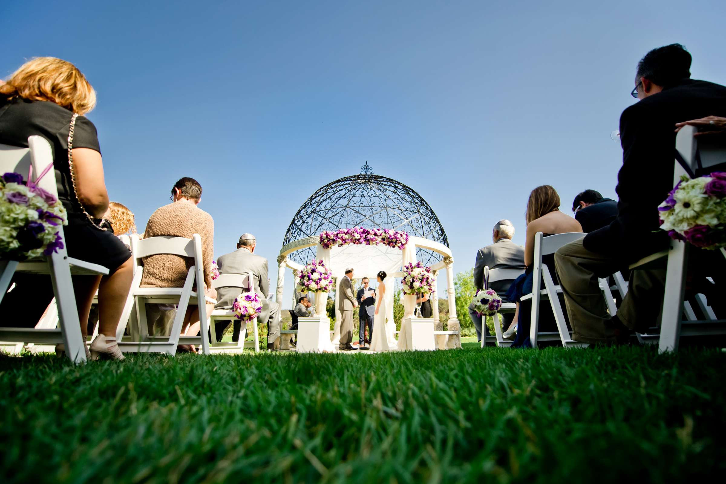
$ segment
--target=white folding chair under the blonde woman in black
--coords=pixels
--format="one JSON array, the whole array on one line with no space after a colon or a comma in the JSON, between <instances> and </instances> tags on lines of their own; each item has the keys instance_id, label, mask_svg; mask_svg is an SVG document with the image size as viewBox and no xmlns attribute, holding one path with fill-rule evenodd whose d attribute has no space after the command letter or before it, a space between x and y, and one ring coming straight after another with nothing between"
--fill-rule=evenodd
<instances>
[{"instance_id":1,"label":"white folding chair under the blonde woman in black","mask_svg":"<svg viewBox=\"0 0 726 484\"><path fill-rule=\"evenodd\" d=\"M28 148L0 144L0 171L2 173L15 171L25 178L32 165L34 176L38 176L52 163L53 155L50 144L42 136L30 136ZM38 181L38 186L57 197L56 180L52 173L54 171ZM86 351L83 350L76 295L73 292L73 281L70 276L71 274L107 275L109 270L98 264L68 257L68 248L65 247L68 242L65 239L63 227L58 226L58 231L63 238L64 247L58 249L56 253L31 261L0 260L0 301L6 294L15 272L49 275L57 302L59 328L0 328L0 340L22 343L63 343L68 358L75 363L82 363L86 361ZM12 317L17 317L22 313L23 308L17 308L17 311Z\"/></svg>"}]
</instances>

